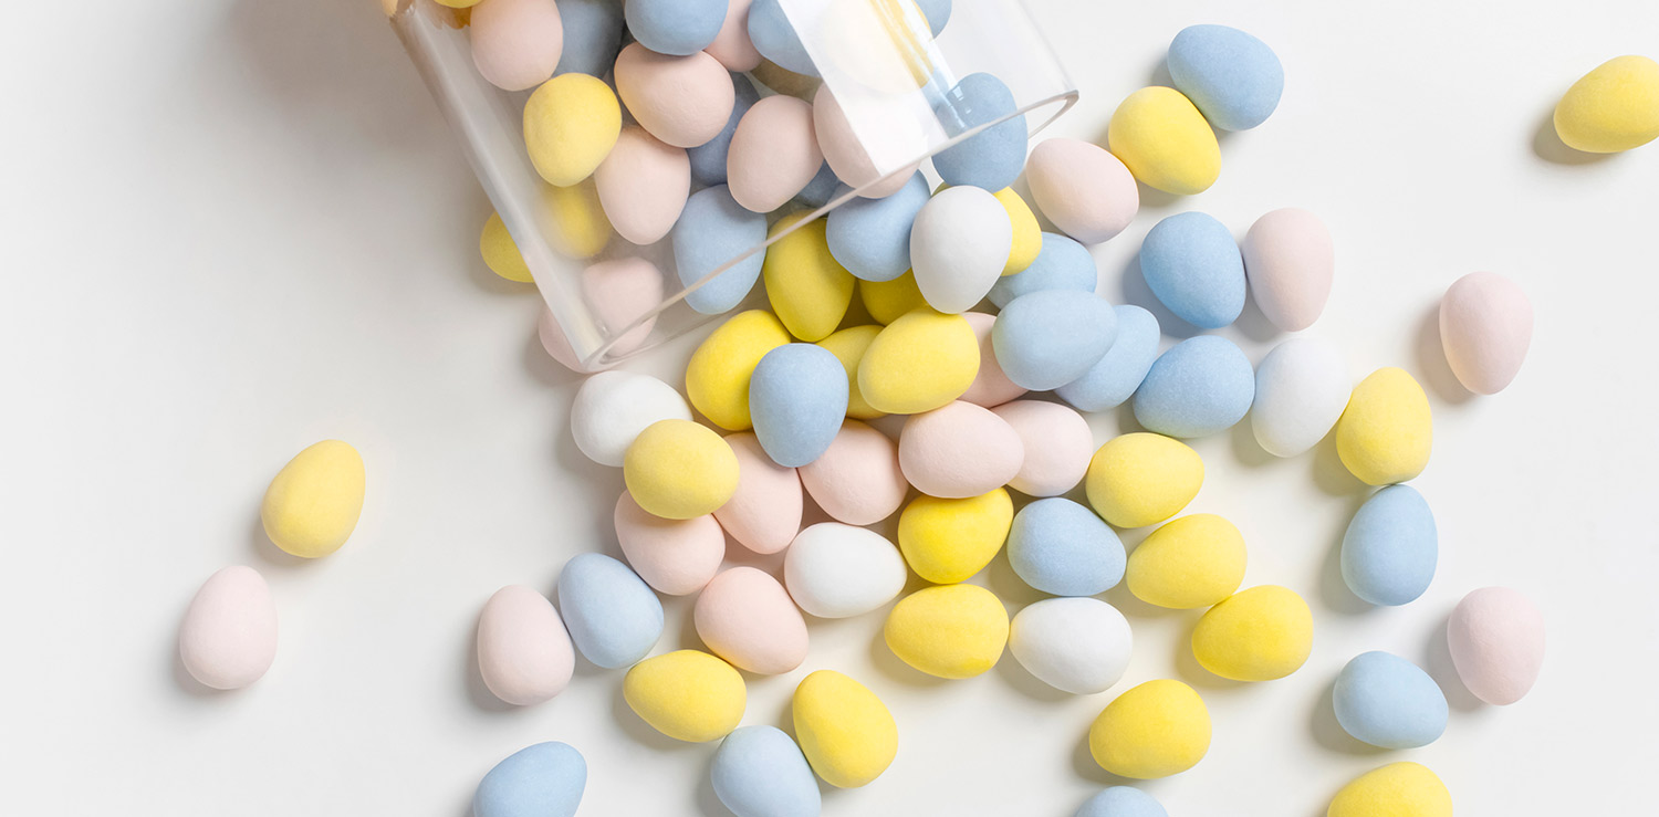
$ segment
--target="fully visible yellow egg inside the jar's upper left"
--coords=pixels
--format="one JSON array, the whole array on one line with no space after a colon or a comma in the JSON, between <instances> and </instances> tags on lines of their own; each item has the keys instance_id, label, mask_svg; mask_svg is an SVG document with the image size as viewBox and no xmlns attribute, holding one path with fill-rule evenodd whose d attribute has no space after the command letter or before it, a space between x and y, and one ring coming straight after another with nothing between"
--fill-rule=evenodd
<instances>
[{"instance_id":1,"label":"fully visible yellow egg inside the jar's upper left","mask_svg":"<svg viewBox=\"0 0 1659 817\"><path fill-rule=\"evenodd\" d=\"M547 184L569 187L594 174L622 134L622 106L604 80L567 73L524 101L524 149Z\"/></svg>"}]
</instances>

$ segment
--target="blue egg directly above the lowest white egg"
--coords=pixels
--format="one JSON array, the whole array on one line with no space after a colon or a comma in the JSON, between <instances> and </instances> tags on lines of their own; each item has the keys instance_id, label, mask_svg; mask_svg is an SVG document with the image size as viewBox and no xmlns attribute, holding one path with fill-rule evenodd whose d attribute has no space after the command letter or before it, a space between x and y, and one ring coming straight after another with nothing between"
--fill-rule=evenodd
<instances>
[{"instance_id":1,"label":"blue egg directly above the lowest white egg","mask_svg":"<svg viewBox=\"0 0 1659 817\"><path fill-rule=\"evenodd\" d=\"M1125 562L1112 527L1070 499L1039 499L1022 507L1009 529L1009 563L1044 593L1105 593L1123 580Z\"/></svg>"}]
</instances>

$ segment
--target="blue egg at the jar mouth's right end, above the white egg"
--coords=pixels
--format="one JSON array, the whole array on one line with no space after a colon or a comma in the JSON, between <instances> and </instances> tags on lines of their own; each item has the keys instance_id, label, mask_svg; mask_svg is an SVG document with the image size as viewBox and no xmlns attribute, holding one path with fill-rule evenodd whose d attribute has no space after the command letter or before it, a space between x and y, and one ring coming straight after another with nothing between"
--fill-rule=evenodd
<instances>
[{"instance_id":1,"label":"blue egg at the jar mouth's right end, above the white egg","mask_svg":"<svg viewBox=\"0 0 1659 817\"><path fill-rule=\"evenodd\" d=\"M1009 119L934 154L939 177L952 187L971 184L990 192L1014 184L1025 169L1025 114L1015 116L1017 109L1014 91L995 76L972 73L956 83L934 106L946 134Z\"/></svg>"}]
</instances>

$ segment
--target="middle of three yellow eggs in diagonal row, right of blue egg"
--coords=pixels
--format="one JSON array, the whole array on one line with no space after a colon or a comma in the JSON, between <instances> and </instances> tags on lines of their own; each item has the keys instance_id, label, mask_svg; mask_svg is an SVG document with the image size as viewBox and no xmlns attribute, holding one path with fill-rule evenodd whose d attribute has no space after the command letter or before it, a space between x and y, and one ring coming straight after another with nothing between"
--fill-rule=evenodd
<instances>
[{"instance_id":1,"label":"middle of three yellow eggs in diagonal row, right of blue egg","mask_svg":"<svg viewBox=\"0 0 1659 817\"><path fill-rule=\"evenodd\" d=\"M1214 514L1170 522L1130 554L1130 593L1173 610L1211 607L1244 583L1244 535Z\"/></svg>"}]
</instances>

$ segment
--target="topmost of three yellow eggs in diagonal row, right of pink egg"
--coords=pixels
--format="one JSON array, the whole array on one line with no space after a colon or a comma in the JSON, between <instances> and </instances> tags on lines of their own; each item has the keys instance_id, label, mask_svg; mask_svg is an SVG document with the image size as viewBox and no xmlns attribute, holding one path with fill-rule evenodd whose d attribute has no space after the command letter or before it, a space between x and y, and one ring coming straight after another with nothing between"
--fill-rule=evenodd
<instances>
[{"instance_id":1,"label":"topmost of three yellow eggs in diagonal row, right of pink egg","mask_svg":"<svg viewBox=\"0 0 1659 817\"><path fill-rule=\"evenodd\" d=\"M1118 527L1155 525L1181 512L1204 484L1204 461L1180 439L1140 431L1108 439L1088 461L1088 504Z\"/></svg>"}]
</instances>

